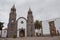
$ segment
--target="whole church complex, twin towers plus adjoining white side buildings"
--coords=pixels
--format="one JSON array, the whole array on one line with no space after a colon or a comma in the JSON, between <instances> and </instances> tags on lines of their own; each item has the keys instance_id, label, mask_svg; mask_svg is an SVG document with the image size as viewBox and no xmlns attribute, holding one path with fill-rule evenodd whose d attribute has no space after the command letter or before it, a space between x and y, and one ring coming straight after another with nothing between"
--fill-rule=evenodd
<instances>
[{"instance_id":1,"label":"whole church complex, twin towers plus adjoining white side buildings","mask_svg":"<svg viewBox=\"0 0 60 40\"><path fill-rule=\"evenodd\" d=\"M56 36L60 33L60 18L41 21L41 28L35 29L34 17L30 8L27 12L27 19L25 17L16 19L16 16L16 8L13 5L9 14L7 29L2 30L2 37Z\"/></svg>"}]
</instances>

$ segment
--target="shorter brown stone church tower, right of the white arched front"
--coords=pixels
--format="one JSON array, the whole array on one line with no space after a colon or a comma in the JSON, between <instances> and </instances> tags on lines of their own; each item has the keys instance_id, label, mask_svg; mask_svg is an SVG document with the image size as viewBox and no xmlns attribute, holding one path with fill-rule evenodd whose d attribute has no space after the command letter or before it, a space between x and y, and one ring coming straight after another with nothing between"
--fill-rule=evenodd
<instances>
[{"instance_id":1,"label":"shorter brown stone church tower, right of the white arched front","mask_svg":"<svg viewBox=\"0 0 60 40\"><path fill-rule=\"evenodd\" d=\"M34 20L33 20L32 11L30 8L27 15L27 36L28 37L35 36Z\"/></svg>"}]
</instances>

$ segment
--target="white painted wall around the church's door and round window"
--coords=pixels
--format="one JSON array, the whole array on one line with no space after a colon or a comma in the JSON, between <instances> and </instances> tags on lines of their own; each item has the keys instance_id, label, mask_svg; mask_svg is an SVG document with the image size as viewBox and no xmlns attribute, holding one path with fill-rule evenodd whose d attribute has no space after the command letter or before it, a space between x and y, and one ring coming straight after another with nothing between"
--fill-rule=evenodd
<instances>
[{"instance_id":1,"label":"white painted wall around the church's door and round window","mask_svg":"<svg viewBox=\"0 0 60 40\"><path fill-rule=\"evenodd\" d=\"M21 21L23 21L24 23L23 24L21 24ZM25 37L27 36L27 30L26 30L26 20L25 19L23 19L23 18L20 18L19 20L18 20L18 26L17 26L17 37L19 37L19 29L25 29Z\"/></svg>"}]
</instances>

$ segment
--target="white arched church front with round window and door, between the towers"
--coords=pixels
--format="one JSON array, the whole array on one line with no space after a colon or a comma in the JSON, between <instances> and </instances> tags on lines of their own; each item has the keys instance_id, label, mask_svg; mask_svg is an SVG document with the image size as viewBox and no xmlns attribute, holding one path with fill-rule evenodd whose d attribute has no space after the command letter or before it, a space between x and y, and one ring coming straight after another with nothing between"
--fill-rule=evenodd
<instances>
[{"instance_id":1,"label":"white arched church front with round window and door, between the towers","mask_svg":"<svg viewBox=\"0 0 60 40\"><path fill-rule=\"evenodd\" d=\"M17 19L17 37L26 37L27 36L27 23L26 23L26 18L24 17L19 17Z\"/></svg>"}]
</instances>

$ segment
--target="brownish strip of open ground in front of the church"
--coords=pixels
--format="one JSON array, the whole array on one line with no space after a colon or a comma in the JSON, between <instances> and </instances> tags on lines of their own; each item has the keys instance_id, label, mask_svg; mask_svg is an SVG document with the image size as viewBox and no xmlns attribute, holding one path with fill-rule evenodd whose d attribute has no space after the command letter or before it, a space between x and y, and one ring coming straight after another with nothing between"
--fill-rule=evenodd
<instances>
[{"instance_id":1,"label":"brownish strip of open ground in front of the church","mask_svg":"<svg viewBox=\"0 0 60 40\"><path fill-rule=\"evenodd\" d=\"M0 40L60 40L60 36L55 36L55 37L0 38Z\"/></svg>"}]
</instances>

